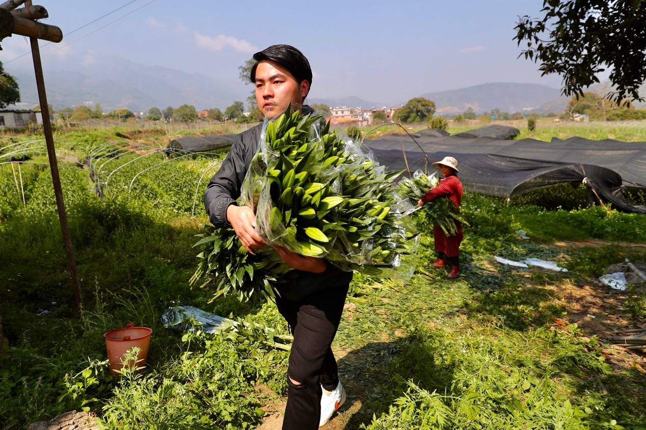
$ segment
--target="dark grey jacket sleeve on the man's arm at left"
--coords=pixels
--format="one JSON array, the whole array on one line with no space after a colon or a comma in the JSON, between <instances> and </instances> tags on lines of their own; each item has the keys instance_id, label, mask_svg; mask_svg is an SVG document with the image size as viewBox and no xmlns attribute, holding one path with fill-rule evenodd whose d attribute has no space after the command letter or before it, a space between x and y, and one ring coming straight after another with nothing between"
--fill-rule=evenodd
<instances>
[{"instance_id":1,"label":"dark grey jacket sleeve on the man's arm at left","mask_svg":"<svg viewBox=\"0 0 646 430\"><path fill-rule=\"evenodd\" d=\"M220 170L213 175L204 192L204 207L213 225L230 225L227 208L240 197L240 188L248 166L245 164L245 148L240 134L236 136Z\"/></svg>"}]
</instances>

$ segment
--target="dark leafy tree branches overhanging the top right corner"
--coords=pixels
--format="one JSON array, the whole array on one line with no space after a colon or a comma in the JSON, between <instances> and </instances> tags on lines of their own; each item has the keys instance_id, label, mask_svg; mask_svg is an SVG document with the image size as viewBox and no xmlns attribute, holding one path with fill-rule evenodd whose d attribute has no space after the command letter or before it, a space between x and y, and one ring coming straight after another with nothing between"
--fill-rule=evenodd
<instances>
[{"instance_id":1,"label":"dark leafy tree branches overhanging the top right corner","mask_svg":"<svg viewBox=\"0 0 646 430\"><path fill-rule=\"evenodd\" d=\"M646 80L646 1L544 0L543 17L519 18L514 28L520 56L540 63L543 75L563 77L565 96L583 96L606 68L617 104L639 94Z\"/></svg>"}]
</instances>

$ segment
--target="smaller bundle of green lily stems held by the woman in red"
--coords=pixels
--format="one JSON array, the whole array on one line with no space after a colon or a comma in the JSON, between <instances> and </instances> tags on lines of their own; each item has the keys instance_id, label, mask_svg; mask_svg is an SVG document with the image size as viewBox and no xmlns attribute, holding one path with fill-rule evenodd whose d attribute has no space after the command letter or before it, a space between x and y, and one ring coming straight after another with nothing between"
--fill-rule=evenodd
<instances>
[{"instance_id":1,"label":"smaller bundle of green lily stems held by the woman in red","mask_svg":"<svg viewBox=\"0 0 646 430\"><path fill-rule=\"evenodd\" d=\"M426 175L422 170L417 170L413 173L412 178L404 178L400 181L399 192L402 196L408 197L411 203L417 204L417 201L424 194L437 187L439 183L437 174ZM455 221L460 221L462 224L468 225L460 215L460 210L448 198L438 198L430 201L424 205L424 210L429 221L439 225L447 236L457 234Z\"/></svg>"}]
</instances>

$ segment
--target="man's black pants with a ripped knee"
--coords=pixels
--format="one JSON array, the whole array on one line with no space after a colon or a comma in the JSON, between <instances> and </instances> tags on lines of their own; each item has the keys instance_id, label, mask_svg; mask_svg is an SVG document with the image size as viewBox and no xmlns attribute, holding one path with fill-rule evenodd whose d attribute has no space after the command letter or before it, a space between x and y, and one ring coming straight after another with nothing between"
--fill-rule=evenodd
<instances>
[{"instance_id":1,"label":"man's black pants with a ripped knee","mask_svg":"<svg viewBox=\"0 0 646 430\"><path fill-rule=\"evenodd\" d=\"M329 285L300 300L276 296L278 311L294 335L289 353L287 407L283 430L315 430L320 420L321 385L332 391L339 383L337 360L330 345L337 334L349 282Z\"/></svg>"}]
</instances>

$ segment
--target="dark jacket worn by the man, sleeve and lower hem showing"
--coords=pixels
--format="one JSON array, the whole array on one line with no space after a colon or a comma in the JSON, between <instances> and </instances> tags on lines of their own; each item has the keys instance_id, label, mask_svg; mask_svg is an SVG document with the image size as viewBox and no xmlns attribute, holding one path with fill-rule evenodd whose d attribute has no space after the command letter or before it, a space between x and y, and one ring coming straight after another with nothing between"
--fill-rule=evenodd
<instances>
[{"instance_id":1,"label":"dark jacket worn by the man, sleeve and lower hem showing","mask_svg":"<svg viewBox=\"0 0 646 430\"><path fill-rule=\"evenodd\" d=\"M240 197L242 181L247 174L251 159L258 150L261 131L262 124L258 124L238 134L229 154L222 161L220 170L211 178L204 193L204 206L213 225L230 225L227 221L227 208L235 204L236 199ZM331 264L328 264L328 269L320 274L304 271L290 273L291 282L282 285L278 290L289 300L300 300L326 287L347 284L352 279L352 272L343 272Z\"/></svg>"}]
</instances>

